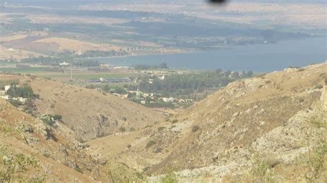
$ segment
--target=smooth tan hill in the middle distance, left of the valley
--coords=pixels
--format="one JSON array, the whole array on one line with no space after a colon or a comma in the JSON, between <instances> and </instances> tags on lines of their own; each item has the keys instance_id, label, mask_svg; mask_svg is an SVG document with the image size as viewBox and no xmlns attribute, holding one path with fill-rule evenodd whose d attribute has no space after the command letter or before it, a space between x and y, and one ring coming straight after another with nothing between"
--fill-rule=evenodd
<instances>
[{"instance_id":1,"label":"smooth tan hill in the middle distance, left of the valley","mask_svg":"<svg viewBox=\"0 0 327 183\"><path fill-rule=\"evenodd\" d=\"M95 89L43 78L35 78L29 84L40 96L36 101L39 113L63 116L77 140L99 138L123 129L141 129L164 118L157 111Z\"/></svg>"}]
</instances>

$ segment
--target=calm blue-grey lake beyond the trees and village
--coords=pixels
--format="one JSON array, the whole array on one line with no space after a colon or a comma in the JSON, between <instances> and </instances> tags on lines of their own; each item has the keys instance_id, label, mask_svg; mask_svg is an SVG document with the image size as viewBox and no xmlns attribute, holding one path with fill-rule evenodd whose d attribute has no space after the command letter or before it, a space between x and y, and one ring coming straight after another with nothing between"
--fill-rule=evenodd
<instances>
[{"instance_id":1,"label":"calm blue-grey lake beyond the trees and village","mask_svg":"<svg viewBox=\"0 0 327 183\"><path fill-rule=\"evenodd\" d=\"M271 72L288 66L305 66L327 60L327 37L279 41L275 44L242 45L226 50L204 52L100 58L112 65L157 65L162 61L172 68L231 69Z\"/></svg>"}]
</instances>

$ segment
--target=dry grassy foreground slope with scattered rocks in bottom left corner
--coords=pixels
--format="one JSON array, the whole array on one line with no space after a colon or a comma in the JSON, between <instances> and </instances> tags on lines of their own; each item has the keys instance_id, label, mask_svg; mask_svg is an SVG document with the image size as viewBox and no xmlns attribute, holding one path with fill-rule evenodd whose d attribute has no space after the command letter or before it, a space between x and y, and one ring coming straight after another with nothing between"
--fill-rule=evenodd
<instances>
[{"instance_id":1,"label":"dry grassy foreground slope with scattered rocks in bottom left corner","mask_svg":"<svg viewBox=\"0 0 327 183\"><path fill-rule=\"evenodd\" d=\"M98 182L106 160L0 99L0 182Z\"/></svg>"}]
</instances>

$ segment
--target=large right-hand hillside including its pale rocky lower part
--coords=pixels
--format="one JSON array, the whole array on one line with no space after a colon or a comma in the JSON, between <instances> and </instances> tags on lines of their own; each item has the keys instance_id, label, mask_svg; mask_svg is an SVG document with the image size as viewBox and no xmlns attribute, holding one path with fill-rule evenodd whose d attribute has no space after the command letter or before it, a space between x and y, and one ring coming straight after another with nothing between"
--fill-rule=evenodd
<instances>
[{"instance_id":1,"label":"large right-hand hillside including its pale rocky lower part","mask_svg":"<svg viewBox=\"0 0 327 183\"><path fill-rule=\"evenodd\" d=\"M238 80L174 118L89 144L145 173L172 169L184 181L200 175L220 180L253 167L255 157L294 163L326 134L319 102L326 70L322 63Z\"/></svg>"}]
</instances>

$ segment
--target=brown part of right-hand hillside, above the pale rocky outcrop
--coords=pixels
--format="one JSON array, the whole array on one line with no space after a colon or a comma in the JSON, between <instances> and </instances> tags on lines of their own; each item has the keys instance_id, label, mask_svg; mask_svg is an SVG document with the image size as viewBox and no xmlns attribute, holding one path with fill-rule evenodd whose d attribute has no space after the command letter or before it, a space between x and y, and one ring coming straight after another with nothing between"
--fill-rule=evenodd
<instances>
[{"instance_id":1,"label":"brown part of right-hand hillside, above the pale rocky outcrop","mask_svg":"<svg viewBox=\"0 0 327 183\"><path fill-rule=\"evenodd\" d=\"M89 144L95 149L101 146L99 151L106 154L113 153L106 142L130 139L124 143L132 147L123 146L117 158L137 169L149 166L150 173L241 161L254 151L251 144L257 138L319 100L321 89L316 86L323 84L326 70L323 63L238 80L177 115L175 124L161 122Z\"/></svg>"}]
</instances>

